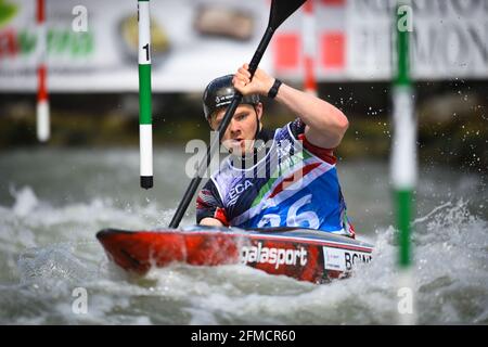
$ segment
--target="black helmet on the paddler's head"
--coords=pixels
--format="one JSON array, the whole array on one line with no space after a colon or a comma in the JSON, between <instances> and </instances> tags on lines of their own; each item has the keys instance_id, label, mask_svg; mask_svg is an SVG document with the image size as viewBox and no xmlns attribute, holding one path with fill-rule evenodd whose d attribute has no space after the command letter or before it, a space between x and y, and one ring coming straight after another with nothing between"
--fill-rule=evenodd
<instances>
[{"instance_id":1,"label":"black helmet on the paddler's head","mask_svg":"<svg viewBox=\"0 0 488 347\"><path fill-rule=\"evenodd\" d=\"M205 88L203 106L205 118L207 120L218 108L227 106L231 103L232 98L235 94L235 89L232 85L233 77L234 75L218 77L209 82L207 88ZM258 94L244 95L241 100L241 104L257 105L258 103Z\"/></svg>"}]
</instances>

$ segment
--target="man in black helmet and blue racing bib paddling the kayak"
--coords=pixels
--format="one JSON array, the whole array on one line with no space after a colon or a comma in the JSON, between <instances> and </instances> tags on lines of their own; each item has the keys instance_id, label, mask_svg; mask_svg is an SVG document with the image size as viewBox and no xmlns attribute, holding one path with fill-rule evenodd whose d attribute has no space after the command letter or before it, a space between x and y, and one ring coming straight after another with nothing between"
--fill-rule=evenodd
<instances>
[{"instance_id":1,"label":"man in black helmet and blue racing bib paddling the kayak","mask_svg":"<svg viewBox=\"0 0 488 347\"><path fill-rule=\"evenodd\" d=\"M214 79L203 95L205 118L217 130L239 90L244 97L223 136L230 155L196 200L196 222L245 229L301 227L354 237L335 168L348 119L332 104L244 64ZM298 117L282 128L262 128L260 97Z\"/></svg>"}]
</instances>

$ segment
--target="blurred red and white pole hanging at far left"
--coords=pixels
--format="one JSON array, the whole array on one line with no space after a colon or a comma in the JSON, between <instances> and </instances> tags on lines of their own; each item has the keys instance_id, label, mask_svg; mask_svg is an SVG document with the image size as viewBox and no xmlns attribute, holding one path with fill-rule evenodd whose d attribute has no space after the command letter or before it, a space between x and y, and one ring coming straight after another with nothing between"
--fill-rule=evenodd
<instances>
[{"instance_id":1,"label":"blurred red and white pole hanging at far left","mask_svg":"<svg viewBox=\"0 0 488 347\"><path fill-rule=\"evenodd\" d=\"M50 115L48 97L48 49L46 28L46 0L36 2L36 24L38 40L38 66L37 66L37 110L36 110L36 132L40 142L46 142L50 138Z\"/></svg>"}]
</instances>

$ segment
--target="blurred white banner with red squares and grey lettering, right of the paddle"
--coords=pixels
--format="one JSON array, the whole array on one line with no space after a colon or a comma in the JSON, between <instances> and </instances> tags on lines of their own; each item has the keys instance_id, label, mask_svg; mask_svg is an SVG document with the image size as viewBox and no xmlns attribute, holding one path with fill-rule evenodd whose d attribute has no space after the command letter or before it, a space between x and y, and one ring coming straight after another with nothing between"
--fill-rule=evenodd
<instances>
[{"instance_id":1,"label":"blurred white banner with red squares and grey lettering, right of the paddle","mask_svg":"<svg viewBox=\"0 0 488 347\"><path fill-rule=\"evenodd\" d=\"M316 1L317 78L389 80L396 1ZM412 60L415 79L488 76L488 1L412 1ZM299 79L303 13L277 34L273 65Z\"/></svg>"}]
</instances>

